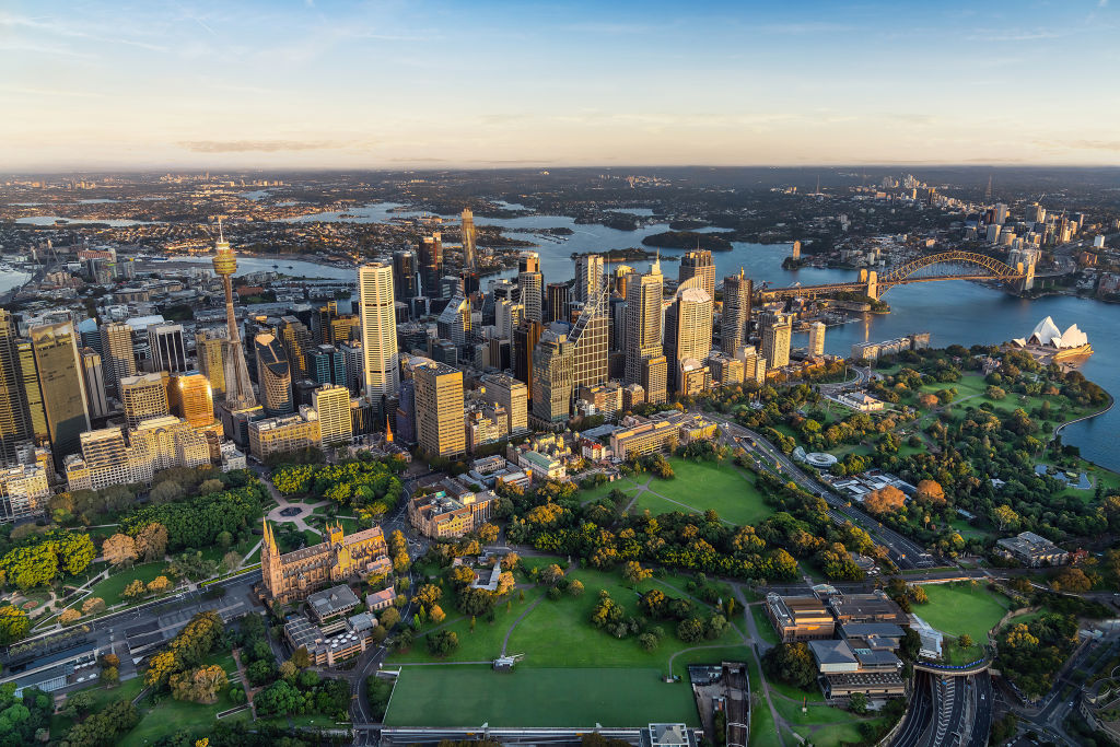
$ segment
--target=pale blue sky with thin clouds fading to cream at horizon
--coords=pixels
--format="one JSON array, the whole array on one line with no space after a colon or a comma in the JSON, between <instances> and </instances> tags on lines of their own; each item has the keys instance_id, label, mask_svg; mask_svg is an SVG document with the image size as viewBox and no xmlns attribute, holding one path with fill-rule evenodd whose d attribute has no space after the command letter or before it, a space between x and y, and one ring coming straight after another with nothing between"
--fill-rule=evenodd
<instances>
[{"instance_id":1,"label":"pale blue sky with thin clouds fading to cream at horizon","mask_svg":"<svg viewBox=\"0 0 1120 747\"><path fill-rule=\"evenodd\" d=\"M1120 0L0 2L0 165L1120 165Z\"/></svg>"}]
</instances>

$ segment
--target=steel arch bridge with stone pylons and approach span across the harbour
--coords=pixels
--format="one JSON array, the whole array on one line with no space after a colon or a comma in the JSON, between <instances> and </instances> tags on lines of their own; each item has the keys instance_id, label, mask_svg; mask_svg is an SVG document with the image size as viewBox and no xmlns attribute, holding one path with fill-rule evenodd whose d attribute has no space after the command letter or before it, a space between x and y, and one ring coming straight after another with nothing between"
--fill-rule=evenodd
<instances>
[{"instance_id":1,"label":"steel arch bridge with stone pylons and approach span across the harbour","mask_svg":"<svg viewBox=\"0 0 1120 747\"><path fill-rule=\"evenodd\" d=\"M1010 267L1005 262L974 252L941 252L927 254L916 260L892 268L881 276L875 270L860 270L852 282L832 282L823 286L791 286L788 288L763 288L758 291L764 301L784 298L814 298L837 293L857 293L879 299L895 286L916 282L939 282L942 280L996 280L1021 290L1034 279L1034 265Z\"/></svg>"}]
</instances>

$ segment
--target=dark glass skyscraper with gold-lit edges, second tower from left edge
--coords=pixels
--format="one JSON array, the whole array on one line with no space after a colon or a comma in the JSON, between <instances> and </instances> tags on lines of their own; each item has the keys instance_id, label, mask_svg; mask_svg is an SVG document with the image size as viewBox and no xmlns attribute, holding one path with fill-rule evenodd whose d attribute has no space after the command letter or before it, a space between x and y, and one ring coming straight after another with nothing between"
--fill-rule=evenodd
<instances>
[{"instance_id":1,"label":"dark glass skyscraper with gold-lit edges, second tower from left edge","mask_svg":"<svg viewBox=\"0 0 1120 747\"><path fill-rule=\"evenodd\" d=\"M50 433L55 466L81 448L78 437L90 430L90 405L82 381L77 332L71 323L31 327L35 368Z\"/></svg>"}]
</instances>

